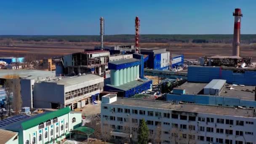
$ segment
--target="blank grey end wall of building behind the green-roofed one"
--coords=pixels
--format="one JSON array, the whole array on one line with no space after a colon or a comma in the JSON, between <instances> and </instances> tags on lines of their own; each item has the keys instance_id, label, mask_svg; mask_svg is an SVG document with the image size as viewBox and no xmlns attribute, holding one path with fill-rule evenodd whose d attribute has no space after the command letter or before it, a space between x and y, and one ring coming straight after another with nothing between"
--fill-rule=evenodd
<instances>
[{"instance_id":1,"label":"blank grey end wall of building behind the green-roofed one","mask_svg":"<svg viewBox=\"0 0 256 144\"><path fill-rule=\"evenodd\" d=\"M51 102L64 107L64 85L56 83L35 83L35 108L51 108Z\"/></svg>"}]
</instances>

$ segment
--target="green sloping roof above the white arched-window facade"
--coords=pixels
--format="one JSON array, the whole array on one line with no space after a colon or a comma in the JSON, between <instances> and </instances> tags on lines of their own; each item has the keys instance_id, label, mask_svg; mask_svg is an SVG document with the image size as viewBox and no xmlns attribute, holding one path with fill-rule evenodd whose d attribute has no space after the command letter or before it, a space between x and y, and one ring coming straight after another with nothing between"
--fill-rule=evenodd
<instances>
[{"instance_id":1,"label":"green sloping roof above the white arched-window facade","mask_svg":"<svg viewBox=\"0 0 256 144\"><path fill-rule=\"evenodd\" d=\"M71 110L69 107L65 107L63 109L59 109L59 110L56 110L54 112L48 112L42 116L39 116L39 117L35 117L31 120L27 120L23 123L21 123L21 126L24 130L27 130L29 128L32 128L36 125L39 125L40 123L42 122L45 122L46 120L51 120L53 119L54 117L60 117L62 115L65 115L67 113L69 113Z\"/></svg>"}]
</instances>

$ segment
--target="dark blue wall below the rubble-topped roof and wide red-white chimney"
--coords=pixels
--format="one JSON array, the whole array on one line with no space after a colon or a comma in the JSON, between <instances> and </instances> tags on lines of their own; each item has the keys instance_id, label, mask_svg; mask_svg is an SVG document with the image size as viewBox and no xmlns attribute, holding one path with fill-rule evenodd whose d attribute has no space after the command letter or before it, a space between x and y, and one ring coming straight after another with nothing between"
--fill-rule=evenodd
<instances>
[{"instance_id":1,"label":"dark blue wall below the rubble-topped roof and wide red-white chimney","mask_svg":"<svg viewBox=\"0 0 256 144\"><path fill-rule=\"evenodd\" d=\"M209 83L213 79L227 80L227 83L232 84L256 85L256 71L245 69L245 73L234 73L221 67L188 67L189 82Z\"/></svg>"}]
</instances>

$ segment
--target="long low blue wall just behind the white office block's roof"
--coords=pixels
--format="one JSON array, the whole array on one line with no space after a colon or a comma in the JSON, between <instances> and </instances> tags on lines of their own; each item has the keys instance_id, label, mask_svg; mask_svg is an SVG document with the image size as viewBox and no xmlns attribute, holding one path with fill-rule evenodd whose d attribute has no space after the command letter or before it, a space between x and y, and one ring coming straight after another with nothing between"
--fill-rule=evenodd
<instances>
[{"instance_id":1,"label":"long low blue wall just behind the white office block's roof","mask_svg":"<svg viewBox=\"0 0 256 144\"><path fill-rule=\"evenodd\" d=\"M189 95L189 94L167 94L167 101L189 101L194 102L195 104L207 104L207 105L218 105L222 106L228 105L229 107L233 106L244 106L244 107L256 107L256 101L246 101L240 100L238 98L227 98L222 96L200 96L200 95Z\"/></svg>"}]
</instances>

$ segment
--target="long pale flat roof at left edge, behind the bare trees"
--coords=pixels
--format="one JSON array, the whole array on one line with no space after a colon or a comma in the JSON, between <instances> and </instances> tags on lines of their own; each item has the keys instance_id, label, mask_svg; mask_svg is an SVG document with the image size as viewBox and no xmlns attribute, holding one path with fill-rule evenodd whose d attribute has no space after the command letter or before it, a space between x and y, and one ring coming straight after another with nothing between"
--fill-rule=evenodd
<instances>
[{"instance_id":1,"label":"long pale flat roof at left edge, behind the bare trees","mask_svg":"<svg viewBox=\"0 0 256 144\"><path fill-rule=\"evenodd\" d=\"M31 69L0 69L0 78L11 79L18 75L24 79L41 79L42 77L55 77L55 71L31 70Z\"/></svg>"}]
</instances>

